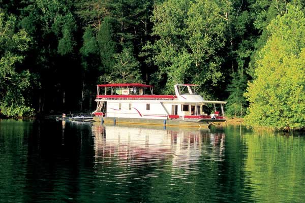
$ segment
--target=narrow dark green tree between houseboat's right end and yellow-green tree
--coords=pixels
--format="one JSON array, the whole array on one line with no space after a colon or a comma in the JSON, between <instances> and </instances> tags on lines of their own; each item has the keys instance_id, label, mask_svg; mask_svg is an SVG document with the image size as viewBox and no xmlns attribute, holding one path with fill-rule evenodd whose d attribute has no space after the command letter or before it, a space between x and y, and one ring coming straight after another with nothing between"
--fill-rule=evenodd
<instances>
[{"instance_id":1,"label":"narrow dark green tree between houseboat's right end and yellow-green tree","mask_svg":"<svg viewBox=\"0 0 305 203\"><path fill-rule=\"evenodd\" d=\"M231 116L242 117L246 113L246 98L243 96L247 88L247 79L243 70L231 74L232 81L227 87L230 93L227 99L226 113Z\"/></svg>"}]
</instances>

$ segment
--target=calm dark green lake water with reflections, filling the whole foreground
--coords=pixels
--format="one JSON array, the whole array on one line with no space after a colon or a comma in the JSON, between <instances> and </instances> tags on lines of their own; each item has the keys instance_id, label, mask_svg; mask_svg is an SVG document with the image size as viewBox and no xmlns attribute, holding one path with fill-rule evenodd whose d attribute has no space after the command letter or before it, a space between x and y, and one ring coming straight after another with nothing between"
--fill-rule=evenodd
<instances>
[{"instance_id":1,"label":"calm dark green lake water with reflections, filling the whole foreground","mask_svg":"<svg viewBox=\"0 0 305 203\"><path fill-rule=\"evenodd\" d=\"M305 136L2 120L0 202L305 202Z\"/></svg>"}]
</instances>

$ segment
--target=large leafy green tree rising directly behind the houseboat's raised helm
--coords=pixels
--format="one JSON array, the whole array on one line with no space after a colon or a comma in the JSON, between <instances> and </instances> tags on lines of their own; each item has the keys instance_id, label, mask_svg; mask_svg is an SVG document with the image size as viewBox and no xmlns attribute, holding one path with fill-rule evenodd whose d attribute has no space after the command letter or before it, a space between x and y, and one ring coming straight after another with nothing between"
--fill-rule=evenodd
<instances>
[{"instance_id":1,"label":"large leafy green tree rising directly behind the houseboat's raised helm","mask_svg":"<svg viewBox=\"0 0 305 203\"><path fill-rule=\"evenodd\" d=\"M149 49L159 66L157 82L167 77L165 92L173 91L175 81L216 85L222 77L217 53L224 46L226 29L217 2L169 0L157 6L152 20L159 40Z\"/></svg>"}]
</instances>

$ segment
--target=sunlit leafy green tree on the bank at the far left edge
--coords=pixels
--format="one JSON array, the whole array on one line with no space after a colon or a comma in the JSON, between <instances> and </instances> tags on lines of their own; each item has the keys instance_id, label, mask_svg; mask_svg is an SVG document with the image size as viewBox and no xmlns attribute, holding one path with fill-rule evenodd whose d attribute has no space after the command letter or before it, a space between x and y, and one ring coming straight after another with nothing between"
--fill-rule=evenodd
<instances>
[{"instance_id":1,"label":"sunlit leafy green tree on the bank at the far left edge","mask_svg":"<svg viewBox=\"0 0 305 203\"><path fill-rule=\"evenodd\" d=\"M33 75L28 70L16 69L30 41L24 29L16 28L16 17L0 12L0 113L3 115L33 113L26 96L33 85Z\"/></svg>"}]
</instances>

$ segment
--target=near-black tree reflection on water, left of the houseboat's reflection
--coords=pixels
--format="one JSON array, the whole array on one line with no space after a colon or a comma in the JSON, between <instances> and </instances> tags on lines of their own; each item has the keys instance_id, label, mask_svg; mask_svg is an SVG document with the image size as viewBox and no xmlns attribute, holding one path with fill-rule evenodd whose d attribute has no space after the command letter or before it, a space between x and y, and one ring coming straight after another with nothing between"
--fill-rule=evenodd
<instances>
[{"instance_id":1,"label":"near-black tree reflection on water, left of the houseboat's reflection","mask_svg":"<svg viewBox=\"0 0 305 203\"><path fill-rule=\"evenodd\" d=\"M37 121L28 143L29 202L77 198L83 170L93 164L90 126Z\"/></svg>"}]
</instances>

